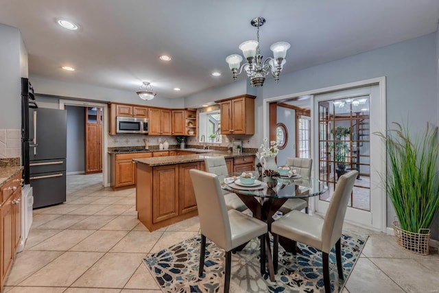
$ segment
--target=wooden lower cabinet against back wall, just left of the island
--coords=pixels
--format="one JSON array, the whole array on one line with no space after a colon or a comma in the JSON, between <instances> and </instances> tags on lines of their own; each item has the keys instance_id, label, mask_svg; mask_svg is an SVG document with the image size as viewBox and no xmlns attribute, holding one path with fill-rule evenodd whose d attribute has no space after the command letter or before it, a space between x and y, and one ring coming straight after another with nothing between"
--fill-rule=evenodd
<instances>
[{"instance_id":1,"label":"wooden lower cabinet against back wall, just left of the island","mask_svg":"<svg viewBox=\"0 0 439 293\"><path fill-rule=\"evenodd\" d=\"M136 166L132 159L150 158L151 152L134 154L112 154L111 158L111 187L129 187L136 184Z\"/></svg>"}]
</instances>

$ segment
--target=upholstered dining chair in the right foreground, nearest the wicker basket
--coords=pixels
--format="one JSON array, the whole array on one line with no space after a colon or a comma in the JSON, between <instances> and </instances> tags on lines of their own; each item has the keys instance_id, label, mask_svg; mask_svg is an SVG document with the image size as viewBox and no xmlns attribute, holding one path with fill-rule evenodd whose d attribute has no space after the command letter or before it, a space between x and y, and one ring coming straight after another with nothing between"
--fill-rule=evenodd
<instances>
[{"instance_id":1,"label":"upholstered dining chair in the right foreground, nearest the wicker basket","mask_svg":"<svg viewBox=\"0 0 439 293\"><path fill-rule=\"evenodd\" d=\"M278 235L287 237L296 242L313 246L322 251L324 292L331 292L331 280L329 279L329 253L335 245L335 258L337 261L338 277L344 279L342 268L342 254L340 239L344 215L348 207L349 198L357 178L358 171L352 170L340 176L335 185L335 191L327 214L324 219L316 215L308 215L300 211L290 211L277 221L274 221L271 231L274 235L273 262L274 272L277 271L278 263ZM294 250L293 250L294 251Z\"/></svg>"}]
</instances>

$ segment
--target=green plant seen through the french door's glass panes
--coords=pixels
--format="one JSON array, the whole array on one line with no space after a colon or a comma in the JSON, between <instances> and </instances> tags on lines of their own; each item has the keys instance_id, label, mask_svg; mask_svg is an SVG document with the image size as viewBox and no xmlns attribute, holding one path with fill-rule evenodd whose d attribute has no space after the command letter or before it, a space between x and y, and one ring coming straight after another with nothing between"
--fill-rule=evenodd
<instances>
[{"instance_id":1,"label":"green plant seen through the french door's glass panes","mask_svg":"<svg viewBox=\"0 0 439 293\"><path fill-rule=\"evenodd\" d=\"M351 135L351 129L337 126L335 129L331 129L331 134L334 137L334 142L329 144L329 150L334 151L334 160L337 164L335 172L337 172L337 178L340 178L346 173L346 162L350 150L349 143L345 139Z\"/></svg>"}]
</instances>

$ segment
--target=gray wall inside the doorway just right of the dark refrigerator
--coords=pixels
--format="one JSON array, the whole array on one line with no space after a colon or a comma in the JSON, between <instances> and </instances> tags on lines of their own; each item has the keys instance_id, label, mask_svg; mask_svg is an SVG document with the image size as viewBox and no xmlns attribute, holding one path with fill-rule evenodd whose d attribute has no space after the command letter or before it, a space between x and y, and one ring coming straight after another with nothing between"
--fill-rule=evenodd
<instances>
[{"instance_id":1,"label":"gray wall inside the doorway just right of the dark refrigerator","mask_svg":"<svg viewBox=\"0 0 439 293\"><path fill-rule=\"evenodd\" d=\"M66 106L65 109L67 110L67 173L84 172L84 107Z\"/></svg>"}]
</instances>

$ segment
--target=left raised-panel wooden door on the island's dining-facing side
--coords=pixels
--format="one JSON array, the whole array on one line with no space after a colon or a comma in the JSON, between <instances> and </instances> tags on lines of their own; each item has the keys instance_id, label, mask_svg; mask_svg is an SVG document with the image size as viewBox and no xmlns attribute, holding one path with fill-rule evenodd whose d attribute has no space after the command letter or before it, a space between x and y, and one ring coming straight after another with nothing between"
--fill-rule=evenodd
<instances>
[{"instance_id":1,"label":"left raised-panel wooden door on the island's dining-facing side","mask_svg":"<svg viewBox=\"0 0 439 293\"><path fill-rule=\"evenodd\" d=\"M152 171L152 222L178 215L178 165L154 167Z\"/></svg>"}]
</instances>

